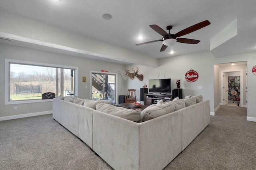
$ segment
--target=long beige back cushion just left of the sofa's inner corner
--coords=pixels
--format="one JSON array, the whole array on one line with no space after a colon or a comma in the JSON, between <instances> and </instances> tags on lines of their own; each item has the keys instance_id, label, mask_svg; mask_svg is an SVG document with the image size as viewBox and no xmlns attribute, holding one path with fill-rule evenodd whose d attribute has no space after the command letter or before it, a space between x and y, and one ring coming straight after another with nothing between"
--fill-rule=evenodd
<instances>
[{"instance_id":1,"label":"long beige back cushion just left of the sofa's inner corner","mask_svg":"<svg viewBox=\"0 0 256 170\"><path fill-rule=\"evenodd\" d=\"M106 103L98 103L96 105L96 110L134 122L140 122L142 119L141 111L138 109L126 109L124 107L116 107Z\"/></svg>"}]
</instances>

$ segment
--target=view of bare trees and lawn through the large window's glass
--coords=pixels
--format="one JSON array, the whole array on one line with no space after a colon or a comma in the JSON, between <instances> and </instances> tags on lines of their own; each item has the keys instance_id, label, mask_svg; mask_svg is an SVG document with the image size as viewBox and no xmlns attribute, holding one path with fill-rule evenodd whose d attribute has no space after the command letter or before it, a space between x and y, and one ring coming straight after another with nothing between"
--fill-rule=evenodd
<instances>
[{"instance_id":1,"label":"view of bare trees and lawn through the large window's glass","mask_svg":"<svg viewBox=\"0 0 256 170\"><path fill-rule=\"evenodd\" d=\"M56 88L56 85L60 86L60 84L64 85L62 94L74 94L72 89L74 81L72 81L70 69L63 69L63 82L60 82L60 68L58 68L57 83L56 69L55 67L10 64L10 99L14 101L42 99L42 94L47 92L55 93L58 97L61 92L56 91L60 89L60 87Z\"/></svg>"}]
</instances>

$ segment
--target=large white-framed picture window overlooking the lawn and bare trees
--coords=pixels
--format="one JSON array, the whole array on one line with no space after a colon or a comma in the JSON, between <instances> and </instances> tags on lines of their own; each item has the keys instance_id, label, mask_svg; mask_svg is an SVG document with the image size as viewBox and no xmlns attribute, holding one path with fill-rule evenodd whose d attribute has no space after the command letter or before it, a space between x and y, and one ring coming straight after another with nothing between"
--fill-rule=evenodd
<instances>
[{"instance_id":1,"label":"large white-framed picture window overlooking the lawn and bare trees","mask_svg":"<svg viewBox=\"0 0 256 170\"><path fill-rule=\"evenodd\" d=\"M41 102L42 94L76 94L76 67L6 59L5 104Z\"/></svg>"}]
</instances>

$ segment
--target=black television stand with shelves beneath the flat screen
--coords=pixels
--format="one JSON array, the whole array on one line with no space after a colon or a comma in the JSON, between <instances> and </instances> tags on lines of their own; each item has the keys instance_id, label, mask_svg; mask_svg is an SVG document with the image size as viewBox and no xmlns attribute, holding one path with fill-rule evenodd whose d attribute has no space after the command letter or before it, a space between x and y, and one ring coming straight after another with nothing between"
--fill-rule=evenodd
<instances>
[{"instance_id":1,"label":"black television stand with shelves beneath the flat screen","mask_svg":"<svg viewBox=\"0 0 256 170\"><path fill-rule=\"evenodd\" d=\"M163 101L172 100L172 94L144 94L144 105L156 104L161 99Z\"/></svg>"}]
</instances>

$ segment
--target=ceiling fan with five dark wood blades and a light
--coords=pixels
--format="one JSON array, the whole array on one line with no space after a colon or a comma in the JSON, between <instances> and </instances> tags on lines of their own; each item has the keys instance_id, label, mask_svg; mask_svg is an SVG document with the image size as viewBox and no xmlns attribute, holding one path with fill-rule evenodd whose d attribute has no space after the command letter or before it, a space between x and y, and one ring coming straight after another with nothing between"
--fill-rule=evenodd
<instances>
[{"instance_id":1,"label":"ceiling fan with five dark wood blades and a light","mask_svg":"<svg viewBox=\"0 0 256 170\"><path fill-rule=\"evenodd\" d=\"M164 51L169 45L172 45L175 42L197 44L200 42L199 40L193 40L193 39L188 39L188 38L177 38L177 37L184 36L186 34L189 34L191 32L194 32L196 30L204 28L205 26L208 26L210 24L211 23L208 20L205 20L203 22L199 22L198 24L190 26L176 34L170 34L170 30L172 29L172 26L166 27L166 30L169 30L169 33L167 33L166 31L164 31L162 28L160 28L157 25L150 25L150 27L153 30L155 30L156 32L158 32L158 34L162 35L163 38L161 40L154 40L154 41L150 41L150 42L138 43L136 45L142 45L142 44L146 44L146 43L162 41L163 45L162 45L162 48L160 49L160 51Z\"/></svg>"}]
</instances>

